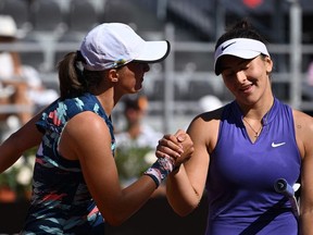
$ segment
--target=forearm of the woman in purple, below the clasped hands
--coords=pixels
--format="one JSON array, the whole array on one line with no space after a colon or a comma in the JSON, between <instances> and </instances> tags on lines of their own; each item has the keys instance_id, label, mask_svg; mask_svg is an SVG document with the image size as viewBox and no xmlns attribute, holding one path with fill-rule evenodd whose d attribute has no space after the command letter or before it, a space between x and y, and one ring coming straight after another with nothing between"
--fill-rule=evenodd
<instances>
[{"instance_id":1,"label":"forearm of the woman in purple, below the clasped hands","mask_svg":"<svg viewBox=\"0 0 313 235\"><path fill-rule=\"evenodd\" d=\"M189 214L198 207L202 194L198 194L192 187L184 164L167 177L166 197L173 210L181 217Z\"/></svg>"}]
</instances>

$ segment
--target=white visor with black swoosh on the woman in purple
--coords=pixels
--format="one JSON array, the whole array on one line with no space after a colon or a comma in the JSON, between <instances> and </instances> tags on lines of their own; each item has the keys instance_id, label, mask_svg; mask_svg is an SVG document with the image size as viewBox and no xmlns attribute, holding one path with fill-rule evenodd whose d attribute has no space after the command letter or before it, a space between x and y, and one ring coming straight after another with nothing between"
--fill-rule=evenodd
<instances>
[{"instance_id":1,"label":"white visor with black swoosh on the woman in purple","mask_svg":"<svg viewBox=\"0 0 313 235\"><path fill-rule=\"evenodd\" d=\"M215 74L221 74L221 60L218 59L225 54L249 60L260 55L261 53L270 57L266 46L260 40L250 38L234 38L226 40L218 46L214 54Z\"/></svg>"}]
</instances>

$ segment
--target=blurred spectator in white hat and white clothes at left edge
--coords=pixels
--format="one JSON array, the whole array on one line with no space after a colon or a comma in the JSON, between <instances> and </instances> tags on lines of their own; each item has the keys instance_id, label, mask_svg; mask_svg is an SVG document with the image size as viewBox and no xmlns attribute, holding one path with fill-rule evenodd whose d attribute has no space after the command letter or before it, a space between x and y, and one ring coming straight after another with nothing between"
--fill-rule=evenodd
<instances>
[{"instance_id":1,"label":"blurred spectator in white hat and white clothes at left edge","mask_svg":"<svg viewBox=\"0 0 313 235\"><path fill-rule=\"evenodd\" d=\"M16 41L17 27L12 16L0 15L0 44ZM15 51L0 51L0 104L8 110L0 112L0 137L5 138L20 125L25 124L38 106L46 106L58 97L55 90L42 86L38 72L21 62ZM18 110L13 110L14 104ZM13 107L14 108L14 107ZM17 118L14 121L13 118ZM12 122L12 120L14 122Z\"/></svg>"}]
</instances>

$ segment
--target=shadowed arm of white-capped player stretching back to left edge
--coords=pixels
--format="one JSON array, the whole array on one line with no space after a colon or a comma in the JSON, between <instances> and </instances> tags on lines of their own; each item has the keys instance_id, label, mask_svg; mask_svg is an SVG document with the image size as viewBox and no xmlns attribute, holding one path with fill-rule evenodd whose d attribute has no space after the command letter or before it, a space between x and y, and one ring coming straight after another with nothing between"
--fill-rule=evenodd
<instances>
[{"instance_id":1,"label":"shadowed arm of white-capped player stretching back to left edge","mask_svg":"<svg viewBox=\"0 0 313 235\"><path fill-rule=\"evenodd\" d=\"M10 168L24 151L40 144L42 134L35 125L40 115L41 112L0 145L0 173Z\"/></svg>"}]
</instances>

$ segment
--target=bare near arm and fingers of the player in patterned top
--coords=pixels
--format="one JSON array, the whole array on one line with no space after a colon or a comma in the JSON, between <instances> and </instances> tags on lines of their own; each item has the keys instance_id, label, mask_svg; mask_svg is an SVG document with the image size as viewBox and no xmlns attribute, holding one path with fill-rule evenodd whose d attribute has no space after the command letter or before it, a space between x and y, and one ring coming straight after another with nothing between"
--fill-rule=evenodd
<instances>
[{"instance_id":1,"label":"bare near arm and fingers of the player in patterned top","mask_svg":"<svg viewBox=\"0 0 313 235\"><path fill-rule=\"evenodd\" d=\"M170 148L176 150L159 150L168 156L173 154L173 158L178 157L180 154L175 156L175 152L179 152L181 147L178 141L177 145L171 141ZM188 146L192 147L190 138L183 139L185 152L180 157L188 157ZM126 221L151 198L156 188L153 177L146 174L126 188L121 187L112 156L110 129L105 122L92 112L79 113L67 122L59 151L64 158L79 160L88 189L102 217L111 225L120 225Z\"/></svg>"}]
</instances>

